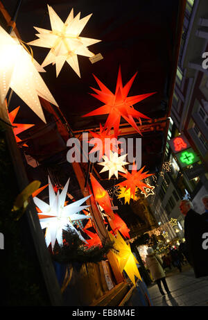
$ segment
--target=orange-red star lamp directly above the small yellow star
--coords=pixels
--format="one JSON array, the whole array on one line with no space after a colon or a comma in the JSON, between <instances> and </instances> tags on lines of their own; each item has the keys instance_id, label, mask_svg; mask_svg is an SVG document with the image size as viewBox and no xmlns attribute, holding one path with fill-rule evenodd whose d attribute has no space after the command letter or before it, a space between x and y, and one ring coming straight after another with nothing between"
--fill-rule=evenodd
<instances>
[{"instance_id":1,"label":"orange-red star lamp directly above the small yellow star","mask_svg":"<svg viewBox=\"0 0 208 320\"><path fill-rule=\"evenodd\" d=\"M144 166L145 167L145 166ZM135 192L137 188L144 192L144 187L150 187L146 185L142 180L147 178L148 176L152 176L153 174L148 174L148 171L143 172L144 167L142 167L139 171L137 171L137 165L132 165L132 173L130 174L129 171L125 174L121 174L126 180L119 183L119 187L126 187L126 190L130 189L130 194L135 199Z\"/></svg>"}]
</instances>

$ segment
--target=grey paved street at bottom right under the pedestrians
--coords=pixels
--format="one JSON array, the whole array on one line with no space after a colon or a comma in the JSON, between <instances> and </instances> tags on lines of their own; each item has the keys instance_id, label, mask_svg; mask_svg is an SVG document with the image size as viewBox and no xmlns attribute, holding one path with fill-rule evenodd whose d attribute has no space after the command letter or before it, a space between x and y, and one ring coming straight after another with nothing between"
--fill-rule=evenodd
<instances>
[{"instance_id":1,"label":"grey paved street at bottom right under the pedestrians","mask_svg":"<svg viewBox=\"0 0 208 320\"><path fill-rule=\"evenodd\" d=\"M162 296L156 284L148 287L154 306L207 306L208 277L195 278L187 264L180 273L177 269L166 272L166 282L171 294Z\"/></svg>"}]
</instances>

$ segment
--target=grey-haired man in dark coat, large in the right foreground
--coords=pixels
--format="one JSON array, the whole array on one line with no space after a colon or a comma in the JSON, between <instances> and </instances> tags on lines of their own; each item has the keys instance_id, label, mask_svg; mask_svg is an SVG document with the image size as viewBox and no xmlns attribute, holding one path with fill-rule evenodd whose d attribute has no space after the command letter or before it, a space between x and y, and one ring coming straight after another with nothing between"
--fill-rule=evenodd
<instances>
[{"instance_id":1,"label":"grey-haired man in dark coat, large in the right foreground","mask_svg":"<svg viewBox=\"0 0 208 320\"><path fill-rule=\"evenodd\" d=\"M189 253L188 262L193 267L196 278L208 276L208 246L205 246L208 223L193 210L193 204L189 200L180 202L180 211L185 216L184 237Z\"/></svg>"}]
</instances>

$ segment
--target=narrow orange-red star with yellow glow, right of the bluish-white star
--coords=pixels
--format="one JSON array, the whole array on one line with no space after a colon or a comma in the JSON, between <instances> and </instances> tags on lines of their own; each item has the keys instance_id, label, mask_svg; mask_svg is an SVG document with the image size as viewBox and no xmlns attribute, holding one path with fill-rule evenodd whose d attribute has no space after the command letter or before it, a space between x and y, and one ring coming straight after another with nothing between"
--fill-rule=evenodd
<instances>
[{"instance_id":1,"label":"narrow orange-red star with yellow glow, right of the bluish-white star","mask_svg":"<svg viewBox=\"0 0 208 320\"><path fill-rule=\"evenodd\" d=\"M102 185L100 185L100 183L98 183L92 174L89 175L95 201L101 205L103 210L105 210L105 213L110 216L111 219L114 219L114 212L112 211L112 204L110 202L110 196L108 192L102 187Z\"/></svg>"}]
</instances>

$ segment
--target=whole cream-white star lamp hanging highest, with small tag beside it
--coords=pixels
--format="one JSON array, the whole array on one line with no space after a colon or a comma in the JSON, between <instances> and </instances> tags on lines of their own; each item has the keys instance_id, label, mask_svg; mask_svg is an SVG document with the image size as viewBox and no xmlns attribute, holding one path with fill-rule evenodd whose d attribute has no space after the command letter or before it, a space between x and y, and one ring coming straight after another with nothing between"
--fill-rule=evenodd
<instances>
[{"instance_id":1,"label":"whole cream-white star lamp hanging highest, with small tag beside it","mask_svg":"<svg viewBox=\"0 0 208 320\"><path fill-rule=\"evenodd\" d=\"M76 17L73 17L72 9L64 23L51 6L48 5L48 9L52 30L34 27L38 32L37 37L39 39L28 42L28 44L51 49L44 62L42 62L42 67L51 63L55 64L56 76L60 73L64 62L67 61L73 71L80 77L77 56L93 57L94 53L89 51L87 47L101 41L89 37L80 37L80 33L92 14L80 19L80 12Z\"/></svg>"}]
</instances>

